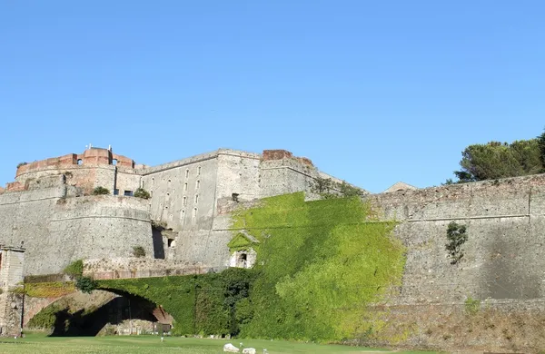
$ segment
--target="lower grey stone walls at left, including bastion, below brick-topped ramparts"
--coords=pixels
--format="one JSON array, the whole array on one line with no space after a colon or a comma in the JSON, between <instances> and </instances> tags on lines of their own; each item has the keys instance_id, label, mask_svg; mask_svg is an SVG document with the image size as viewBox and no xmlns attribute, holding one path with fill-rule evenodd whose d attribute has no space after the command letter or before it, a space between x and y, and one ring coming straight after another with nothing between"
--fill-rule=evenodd
<instances>
[{"instance_id":1,"label":"lower grey stone walls at left, including bastion, below brick-topped ramparts","mask_svg":"<svg viewBox=\"0 0 545 354\"><path fill-rule=\"evenodd\" d=\"M56 273L71 261L128 257L133 246L153 256L148 206L137 198L65 198L69 186L0 195L0 243L24 241L25 274Z\"/></svg>"}]
</instances>

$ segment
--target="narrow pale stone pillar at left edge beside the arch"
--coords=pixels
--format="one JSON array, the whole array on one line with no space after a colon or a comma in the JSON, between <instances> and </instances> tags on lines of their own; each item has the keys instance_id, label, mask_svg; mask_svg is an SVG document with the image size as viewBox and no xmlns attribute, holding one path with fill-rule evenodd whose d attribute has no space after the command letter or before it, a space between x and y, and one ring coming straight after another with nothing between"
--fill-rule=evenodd
<instances>
[{"instance_id":1,"label":"narrow pale stone pillar at left edge beside the arch","mask_svg":"<svg viewBox=\"0 0 545 354\"><path fill-rule=\"evenodd\" d=\"M0 335L21 334L25 250L0 246Z\"/></svg>"}]
</instances>

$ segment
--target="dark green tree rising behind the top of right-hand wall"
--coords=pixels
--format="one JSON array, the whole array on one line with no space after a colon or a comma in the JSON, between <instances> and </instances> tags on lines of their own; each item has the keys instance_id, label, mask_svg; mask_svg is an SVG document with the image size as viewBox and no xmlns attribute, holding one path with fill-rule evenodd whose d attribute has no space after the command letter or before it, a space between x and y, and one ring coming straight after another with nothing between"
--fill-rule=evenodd
<instances>
[{"instance_id":1,"label":"dark green tree rising behind the top of right-hand wall","mask_svg":"<svg viewBox=\"0 0 545 354\"><path fill-rule=\"evenodd\" d=\"M545 148L545 136L543 146ZM461 171L454 172L458 182L496 180L535 174L539 173L543 166L538 139L513 143L473 144L468 146L461 155Z\"/></svg>"}]
</instances>

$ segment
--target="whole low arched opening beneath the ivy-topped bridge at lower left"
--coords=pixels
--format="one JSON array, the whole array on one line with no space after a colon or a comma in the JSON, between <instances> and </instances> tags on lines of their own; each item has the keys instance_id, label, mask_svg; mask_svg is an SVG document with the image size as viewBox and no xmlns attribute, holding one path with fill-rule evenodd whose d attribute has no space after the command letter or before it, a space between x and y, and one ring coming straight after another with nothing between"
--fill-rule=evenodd
<instances>
[{"instance_id":1,"label":"whole low arched opening beneath the ivy-topped bridge at lower left","mask_svg":"<svg viewBox=\"0 0 545 354\"><path fill-rule=\"evenodd\" d=\"M121 290L66 295L27 320L27 328L50 329L51 337L161 334L173 324L161 306Z\"/></svg>"}]
</instances>

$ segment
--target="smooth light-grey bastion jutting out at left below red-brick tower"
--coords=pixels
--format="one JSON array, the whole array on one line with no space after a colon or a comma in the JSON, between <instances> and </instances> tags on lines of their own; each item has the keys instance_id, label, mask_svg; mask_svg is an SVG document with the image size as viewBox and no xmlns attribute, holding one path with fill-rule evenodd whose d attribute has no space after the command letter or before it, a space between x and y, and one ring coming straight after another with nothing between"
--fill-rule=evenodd
<instances>
[{"instance_id":1,"label":"smooth light-grey bastion jutting out at left below red-brick tower","mask_svg":"<svg viewBox=\"0 0 545 354\"><path fill-rule=\"evenodd\" d=\"M88 196L58 202L49 223L44 261L33 274L62 270L78 259L131 257L134 246L153 258L154 245L147 203L133 197Z\"/></svg>"}]
</instances>

